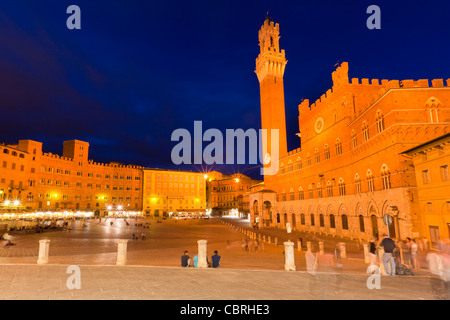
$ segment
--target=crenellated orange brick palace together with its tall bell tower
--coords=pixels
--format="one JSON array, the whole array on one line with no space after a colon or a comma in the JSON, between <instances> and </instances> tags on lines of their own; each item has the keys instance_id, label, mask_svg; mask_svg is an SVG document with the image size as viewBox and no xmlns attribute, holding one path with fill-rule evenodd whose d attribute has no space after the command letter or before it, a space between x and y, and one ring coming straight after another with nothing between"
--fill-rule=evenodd
<instances>
[{"instance_id":1,"label":"crenellated orange brick palace together with its tall bell tower","mask_svg":"<svg viewBox=\"0 0 450 320\"><path fill-rule=\"evenodd\" d=\"M331 89L298 106L301 147L287 151L279 25L266 19L259 40L262 128L280 130L280 159L278 173L252 190L252 222L348 238L424 237L413 161L402 152L450 131L450 79L349 79L344 62Z\"/></svg>"}]
</instances>

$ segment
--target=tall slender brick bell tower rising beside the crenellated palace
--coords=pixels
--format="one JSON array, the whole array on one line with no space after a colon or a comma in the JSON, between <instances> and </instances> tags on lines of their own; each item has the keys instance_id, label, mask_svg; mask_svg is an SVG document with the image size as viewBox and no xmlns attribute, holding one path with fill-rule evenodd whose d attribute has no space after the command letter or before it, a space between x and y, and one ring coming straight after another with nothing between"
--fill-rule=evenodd
<instances>
[{"instance_id":1,"label":"tall slender brick bell tower rising beside the crenellated palace","mask_svg":"<svg viewBox=\"0 0 450 320\"><path fill-rule=\"evenodd\" d=\"M279 157L287 154L286 115L284 110L283 75L287 60L284 50L280 51L280 27L266 18L259 30L261 52L256 58L255 73L258 76L261 97L261 128L267 129L267 148L263 149L266 158L270 155L270 130L279 130Z\"/></svg>"}]
</instances>

